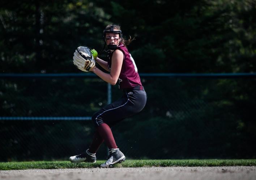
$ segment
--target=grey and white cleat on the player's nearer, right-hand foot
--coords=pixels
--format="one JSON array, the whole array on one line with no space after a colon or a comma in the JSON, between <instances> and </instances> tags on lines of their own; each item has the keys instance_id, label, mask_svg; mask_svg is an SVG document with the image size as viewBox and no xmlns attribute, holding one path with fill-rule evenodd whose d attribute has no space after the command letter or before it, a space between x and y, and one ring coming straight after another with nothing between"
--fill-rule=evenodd
<instances>
[{"instance_id":1,"label":"grey and white cleat on the player's nearer, right-hand foot","mask_svg":"<svg viewBox=\"0 0 256 180\"><path fill-rule=\"evenodd\" d=\"M105 163L101 164L101 167L112 167L114 164L121 163L123 161L125 161L125 156L119 149L110 149L108 159Z\"/></svg>"}]
</instances>

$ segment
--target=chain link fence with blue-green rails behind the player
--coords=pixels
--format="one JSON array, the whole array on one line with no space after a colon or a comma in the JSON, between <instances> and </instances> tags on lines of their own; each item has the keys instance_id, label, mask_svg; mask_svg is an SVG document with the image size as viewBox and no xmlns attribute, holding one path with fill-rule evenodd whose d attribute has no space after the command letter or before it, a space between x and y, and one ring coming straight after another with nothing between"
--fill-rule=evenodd
<instances>
[{"instance_id":1,"label":"chain link fence with blue-green rails behind the player","mask_svg":"<svg viewBox=\"0 0 256 180\"><path fill-rule=\"evenodd\" d=\"M112 128L127 158L256 158L255 74L141 80L146 107ZM67 160L84 152L94 134L90 117L122 94L109 87L91 74L0 76L0 161ZM103 144L97 158L106 156Z\"/></svg>"}]
</instances>

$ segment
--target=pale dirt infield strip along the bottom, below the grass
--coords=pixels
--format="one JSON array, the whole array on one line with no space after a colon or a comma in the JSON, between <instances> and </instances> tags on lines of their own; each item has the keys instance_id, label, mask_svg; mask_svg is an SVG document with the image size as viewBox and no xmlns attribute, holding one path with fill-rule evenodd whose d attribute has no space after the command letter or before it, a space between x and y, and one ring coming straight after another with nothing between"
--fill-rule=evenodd
<instances>
[{"instance_id":1,"label":"pale dirt infield strip along the bottom, below the grass","mask_svg":"<svg viewBox=\"0 0 256 180\"><path fill-rule=\"evenodd\" d=\"M122 180L255 180L256 166L234 167L139 167L139 168L80 168L53 170L0 171L0 179L122 179Z\"/></svg>"}]
</instances>

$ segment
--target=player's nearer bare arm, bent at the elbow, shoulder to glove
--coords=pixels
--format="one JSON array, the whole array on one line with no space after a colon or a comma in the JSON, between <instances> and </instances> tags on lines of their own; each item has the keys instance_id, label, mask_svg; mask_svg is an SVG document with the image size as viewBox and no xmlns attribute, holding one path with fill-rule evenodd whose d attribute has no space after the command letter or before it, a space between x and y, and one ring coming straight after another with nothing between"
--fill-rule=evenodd
<instances>
[{"instance_id":1,"label":"player's nearer bare arm, bent at the elbow, shoulder to glove","mask_svg":"<svg viewBox=\"0 0 256 180\"><path fill-rule=\"evenodd\" d=\"M115 85L118 81L118 77L121 72L122 64L123 64L124 54L121 50L115 50L112 55L111 62L111 71L110 74L101 71L98 68L92 69L97 76L102 78L102 80L110 83L111 85Z\"/></svg>"}]
</instances>

